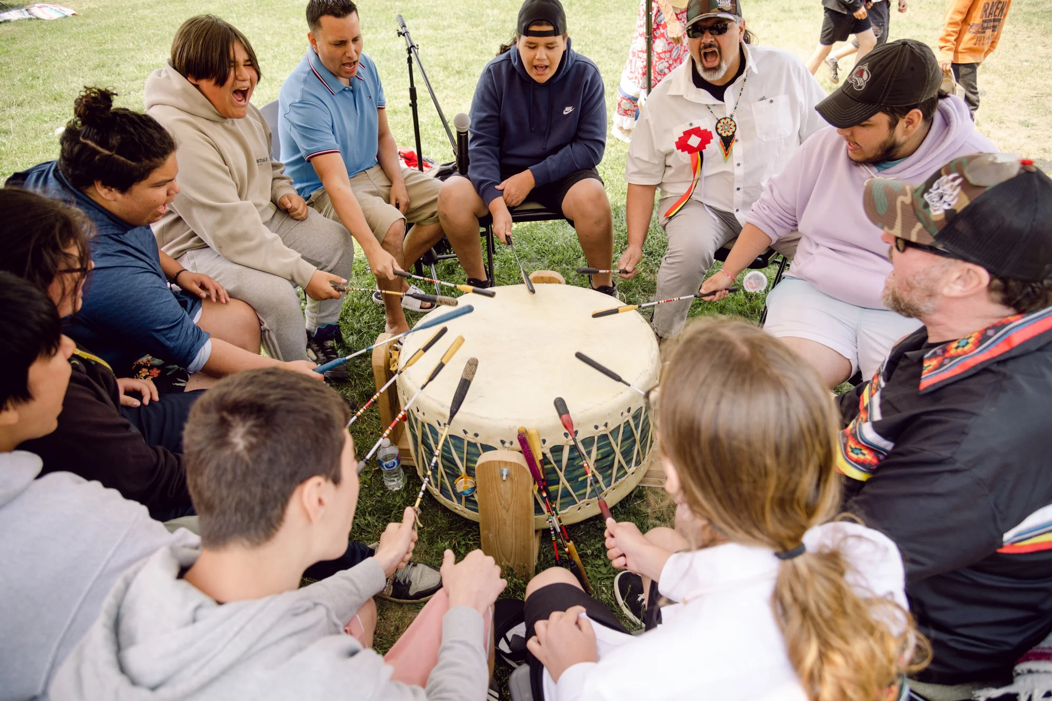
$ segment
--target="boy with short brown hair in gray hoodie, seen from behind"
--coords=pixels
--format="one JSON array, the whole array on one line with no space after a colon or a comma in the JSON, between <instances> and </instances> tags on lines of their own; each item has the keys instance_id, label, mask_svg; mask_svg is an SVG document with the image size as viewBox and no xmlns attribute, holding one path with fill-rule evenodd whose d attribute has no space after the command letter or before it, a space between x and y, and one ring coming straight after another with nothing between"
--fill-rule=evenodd
<instances>
[{"instance_id":1,"label":"boy with short brown hair in gray hoodie, seen from behind","mask_svg":"<svg viewBox=\"0 0 1052 701\"><path fill-rule=\"evenodd\" d=\"M209 390L184 433L201 547L164 548L117 582L52 699L482 701L484 614L506 582L480 551L459 564L446 551L445 596L428 603L447 602L441 633L438 618L410 626L420 654L405 659L433 664L426 688L392 681L412 675L344 633L353 619L371 637L370 597L412 553L411 508L373 557L299 589L346 548L359 490L347 419L336 392L296 373L242 372ZM429 663L428 634L441 637Z\"/></svg>"}]
</instances>

